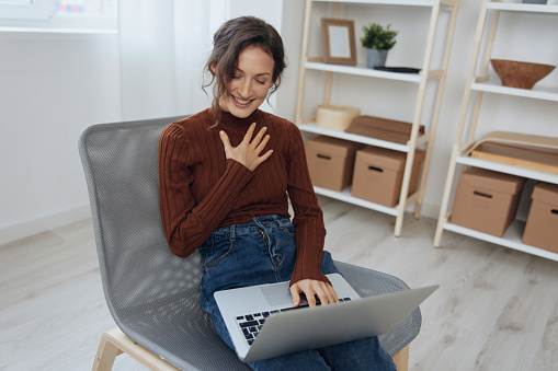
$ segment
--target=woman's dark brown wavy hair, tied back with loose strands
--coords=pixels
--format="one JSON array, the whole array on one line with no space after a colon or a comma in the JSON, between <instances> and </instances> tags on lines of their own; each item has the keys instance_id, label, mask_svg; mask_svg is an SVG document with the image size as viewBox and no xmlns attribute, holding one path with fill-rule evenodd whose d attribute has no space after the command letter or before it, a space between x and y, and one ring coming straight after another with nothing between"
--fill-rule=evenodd
<instances>
[{"instance_id":1,"label":"woman's dark brown wavy hair, tied back with loose strands","mask_svg":"<svg viewBox=\"0 0 558 371\"><path fill-rule=\"evenodd\" d=\"M219 101L227 94L227 85L235 77L240 51L249 46L259 47L273 58L273 85L270 88L270 95L281 84L286 60L283 40L277 31L255 16L240 16L225 22L213 36L213 51L204 68L204 71L210 74L210 81L203 84L204 90L215 82L212 104L215 123L220 119Z\"/></svg>"}]
</instances>

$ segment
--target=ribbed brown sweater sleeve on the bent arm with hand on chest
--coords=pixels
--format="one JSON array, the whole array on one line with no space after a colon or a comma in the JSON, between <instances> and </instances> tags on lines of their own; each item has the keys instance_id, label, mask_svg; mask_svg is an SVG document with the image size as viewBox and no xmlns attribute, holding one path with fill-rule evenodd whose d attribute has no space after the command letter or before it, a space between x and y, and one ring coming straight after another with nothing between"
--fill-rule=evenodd
<instances>
[{"instance_id":1,"label":"ribbed brown sweater sleeve on the bent arm with hand on chest","mask_svg":"<svg viewBox=\"0 0 558 371\"><path fill-rule=\"evenodd\" d=\"M183 129L171 124L159 140L162 227L172 253L180 257L194 253L219 227L253 176L248 167L228 159L225 173L196 205L191 192L194 177L187 165L189 148L184 137Z\"/></svg>"}]
</instances>

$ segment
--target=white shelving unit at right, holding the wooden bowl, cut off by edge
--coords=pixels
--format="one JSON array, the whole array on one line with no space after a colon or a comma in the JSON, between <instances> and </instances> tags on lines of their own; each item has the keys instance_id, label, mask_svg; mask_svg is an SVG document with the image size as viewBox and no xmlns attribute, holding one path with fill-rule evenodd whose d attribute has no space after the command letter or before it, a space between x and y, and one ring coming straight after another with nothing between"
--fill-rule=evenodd
<instances>
[{"instance_id":1,"label":"white shelving unit at right, holding the wooden bowl, cut off by edge","mask_svg":"<svg viewBox=\"0 0 558 371\"><path fill-rule=\"evenodd\" d=\"M476 76L477 65L480 59L480 51L482 48L482 37L486 32L486 24L488 23L488 14L492 12L492 24L488 34L488 39L485 43L485 59L482 65L482 71L480 76ZM523 230L525 229L525 222L515 220L502 237L493 236L490 234L481 233L462 225L451 223L451 210L448 208L449 199L452 198L452 188L455 181L457 165L467 165L474 167L481 167L491 170L494 172L513 174L529 179L536 179L547 183L558 184L558 175L534 171L526 167L512 166L499 162L492 162L487 160L474 159L469 156L470 148L476 143L476 130L478 124L478 116L482 97L485 93L490 94L502 94L508 96L519 96L523 98L543 100L547 102L558 102L558 88L538 88L535 86L533 90L515 89L502 86L499 81L491 81L488 78L488 66L492 47L494 44L496 33L498 28L498 22L500 12L517 12L517 13L529 13L529 14L548 14L549 16L557 16L558 20L558 5L540 5L540 4L523 4L523 3L509 3L496 0L483 0L479 21L477 25L477 33L475 38L475 48L469 66L468 81L465 89L464 101L462 105L462 113L459 118L459 125L457 135L455 138L452 158L449 161L449 169L447 172L447 179L444 188L444 195L442 199L442 207L440 210L440 217L434 236L434 246L440 246L443 231L452 231L468 235L475 239L488 241L498 245L506 246L517 251L522 251L532 255L542 256L548 259L558 262L558 254L526 245L522 242ZM521 24L519 24L521 26ZM472 104L471 96L476 93L476 101L474 107L474 114L467 120L467 113ZM549 123L554 125L555 123ZM468 131L468 138L464 138L464 132ZM558 146L558 138L549 138L547 136L540 136L542 141L545 141L545 146L549 140L554 141ZM553 148L557 148L553 146Z\"/></svg>"}]
</instances>

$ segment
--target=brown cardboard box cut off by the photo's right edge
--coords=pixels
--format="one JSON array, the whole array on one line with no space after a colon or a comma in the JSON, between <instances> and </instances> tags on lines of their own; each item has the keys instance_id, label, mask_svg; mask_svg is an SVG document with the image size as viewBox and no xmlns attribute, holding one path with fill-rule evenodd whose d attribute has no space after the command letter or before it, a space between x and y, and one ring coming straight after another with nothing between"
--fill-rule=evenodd
<instances>
[{"instance_id":1,"label":"brown cardboard box cut off by the photo's right edge","mask_svg":"<svg viewBox=\"0 0 558 371\"><path fill-rule=\"evenodd\" d=\"M523 243L558 253L558 185L539 183L523 233Z\"/></svg>"}]
</instances>

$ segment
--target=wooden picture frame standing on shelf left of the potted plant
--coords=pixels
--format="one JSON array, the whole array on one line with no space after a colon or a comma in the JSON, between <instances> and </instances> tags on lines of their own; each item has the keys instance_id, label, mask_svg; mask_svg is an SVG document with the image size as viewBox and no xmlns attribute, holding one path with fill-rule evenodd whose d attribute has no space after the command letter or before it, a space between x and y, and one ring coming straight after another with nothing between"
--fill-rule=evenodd
<instances>
[{"instance_id":1,"label":"wooden picture frame standing on shelf left of the potted plant","mask_svg":"<svg viewBox=\"0 0 558 371\"><path fill-rule=\"evenodd\" d=\"M323 61L334 65L356 65L354 21L321 19Z\"/></svg>"}]
</instances>

